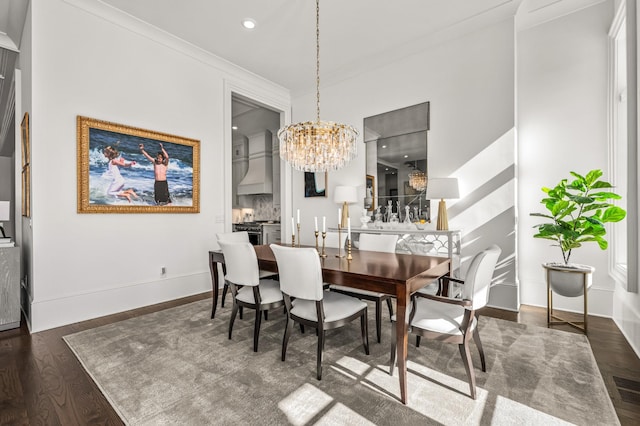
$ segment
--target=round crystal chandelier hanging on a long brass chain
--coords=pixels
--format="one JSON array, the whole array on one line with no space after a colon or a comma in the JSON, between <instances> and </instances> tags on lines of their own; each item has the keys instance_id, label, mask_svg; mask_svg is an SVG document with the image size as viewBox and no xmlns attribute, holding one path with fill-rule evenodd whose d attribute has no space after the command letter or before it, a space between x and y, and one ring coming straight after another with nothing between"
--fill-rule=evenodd
<instances>
[{"instance_id":1,"label":"round crystal chandelier hanging on a long brass chain","mask_svg":"<svg viewBox=\"0 0 640 426\"><path fill-rule=\"evenodd\" d=\"M357 136L353 126L320 120L320 0L316 0L316 121L289 124L278 131L280 158L300 171L338 170L356 156Z\"/></svg>"}]
</instances>

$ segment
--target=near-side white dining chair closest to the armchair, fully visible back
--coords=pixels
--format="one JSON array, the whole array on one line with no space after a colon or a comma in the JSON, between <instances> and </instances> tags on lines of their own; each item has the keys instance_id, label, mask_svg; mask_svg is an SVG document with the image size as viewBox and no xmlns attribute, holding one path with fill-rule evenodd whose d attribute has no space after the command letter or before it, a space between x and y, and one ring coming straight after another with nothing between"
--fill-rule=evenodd
<instances>
[{"instance_id":1,"label":"near-side white dining chair closest to the armchair, fully visible back","mask_svg":"<svg viewBox=\"0 0 640 426\"><path fill-rule=\"evenodd\" d=\"M369 355L366 302L344 294L324 291L320 257L314 248L284 247L275 244L270 247L278 263L280 289L287 308L282 361L286 358L294 321L318 331L318 380L322 379L322 352L326 330L345 326L360 318L362 344L365 353Z\"/></svg>"}]
</instances>

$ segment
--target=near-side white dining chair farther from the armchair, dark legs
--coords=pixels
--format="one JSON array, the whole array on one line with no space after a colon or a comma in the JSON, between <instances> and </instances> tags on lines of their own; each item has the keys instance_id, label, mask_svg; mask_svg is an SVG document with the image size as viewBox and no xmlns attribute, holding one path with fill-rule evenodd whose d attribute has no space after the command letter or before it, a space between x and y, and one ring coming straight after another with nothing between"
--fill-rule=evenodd
<instances>
[{"instance_id":1,"label":"near-side white dining chair farther from the armchair, dark legs","mask_svg":"<svg viewBox=\"0 0 640 426\"><path fill-rule=\"evenodd\" d=\"M258 257L251 243L227 243L220 241L227 272L225 283L233 296L233 310L229 320L229 339L233 323L240 307L256 311L253 329L253 351L258 352L258 338L262 313L284 305L280 285L277 281L260 279Z\"/></svg>"}]
</instances>

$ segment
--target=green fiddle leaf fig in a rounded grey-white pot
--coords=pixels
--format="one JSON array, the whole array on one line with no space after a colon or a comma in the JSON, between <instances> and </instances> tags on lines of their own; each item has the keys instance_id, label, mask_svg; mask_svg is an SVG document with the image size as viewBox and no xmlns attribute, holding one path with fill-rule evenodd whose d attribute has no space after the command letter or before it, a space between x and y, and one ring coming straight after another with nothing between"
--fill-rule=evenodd
<instances>
[{"instance_id":1,"label":"green fiddle leaf fig in a rounded grey-white pot","mask_svg":"<svg viewBox=\"0 0 640 426\"><path fill-rule=\"evenodd\" d=\"M626 211L610 202L621 197L611 192L613 186L609 182L600 180L602 170L591 170L585 176L570 173L573 180L562 179L553 188L542 188L546 196L540 202L548 212L531 213L531 216L548 220L534 226L538 230L534 238L553 241L555 244L552 245L560 248L564 260L564 263L543 265L547 269L547 282L555 292L574 297L582 295L585 287L590 287L595 268L569 263L572 251L590 242L606 250L605 223L621 221ZM570 274L561 273L571 270L579 272L579 276L573 279ZM588 277L583 278L583 275Z\"/></svg>"}]
</instances>

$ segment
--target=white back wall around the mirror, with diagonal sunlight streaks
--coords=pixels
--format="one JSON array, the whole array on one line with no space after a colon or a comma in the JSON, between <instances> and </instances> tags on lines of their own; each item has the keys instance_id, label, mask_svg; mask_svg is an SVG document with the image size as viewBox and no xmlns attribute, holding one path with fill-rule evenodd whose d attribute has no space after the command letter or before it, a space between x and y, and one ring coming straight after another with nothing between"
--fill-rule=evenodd
<instances>
[{"instance_id":1,"label":"white back wall around the mirror, with diagonal sunlight streaks","mask_svg":"<svg viewBox=\"0 0 640 426\"><path fill-rule=\"evenodd\" d=\"M331 52L325 52L330 55ZM492 303L517 309L515 287L515 40L513 21L461 36L410 57L321 87L321 118L351 124L361 132L358 156L329 173L328 199L304 198L302 173L293 174L293 206L301 210L302 243L313 244L313 217L337 223L336 185L364 185L363 119L431 102L430 177L460 179L461 199L449 202L449 227L463 230L463 256L498 243L497 273L505 288ZM314 116L315 92L293 99L293 120ZM358 218L361 205L350 207ZM290 219L283 216L290 236ZM505 295L500 300L500 295Z\"/></svg>"}]
</instances>

